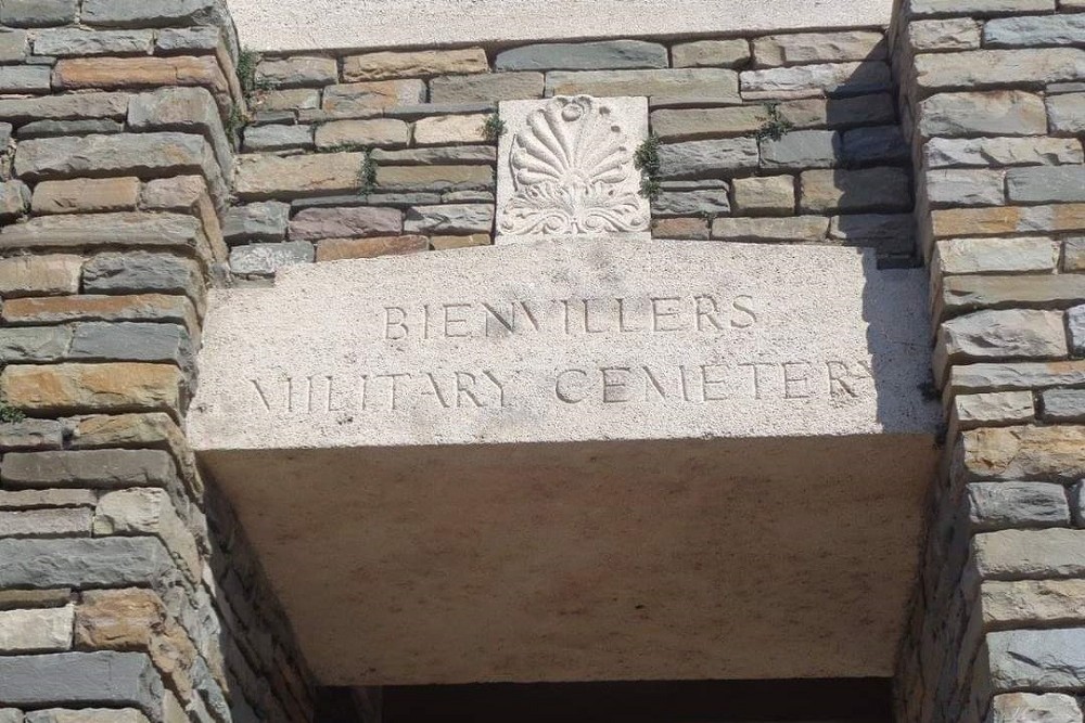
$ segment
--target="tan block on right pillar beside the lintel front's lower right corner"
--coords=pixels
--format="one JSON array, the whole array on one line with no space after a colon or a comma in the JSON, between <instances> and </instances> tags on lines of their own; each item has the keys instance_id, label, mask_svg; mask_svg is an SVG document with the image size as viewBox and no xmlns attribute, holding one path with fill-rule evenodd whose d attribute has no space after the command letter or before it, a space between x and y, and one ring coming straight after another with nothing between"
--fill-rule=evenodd
<instances>
[{"instance_id":1,"label":"tan block on right pillar beside the lintel front's lower right corner","mask_svg":"<svg viewBox=\"0 0 1085 723\"><path fill-rule=\"evenodd\" d=\"M1076 481L1085 478L1085 427L972 429L961 435L956 466L965 481Z\"/></svg>"}]
</instances>

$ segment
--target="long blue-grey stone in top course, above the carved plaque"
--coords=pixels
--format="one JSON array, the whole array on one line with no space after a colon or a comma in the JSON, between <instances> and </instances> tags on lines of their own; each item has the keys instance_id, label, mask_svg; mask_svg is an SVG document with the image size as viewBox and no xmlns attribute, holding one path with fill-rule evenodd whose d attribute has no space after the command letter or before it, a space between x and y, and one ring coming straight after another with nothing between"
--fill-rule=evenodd
<instances>
[{"instance_id":1,"label":"long blue-grey stone in top course, above the carved plaque","mask_svg":"<svg viewBox=\"0 0 1085 723\"><path fill-rule=\"evenodd\" d=\"M500 52L494 67L497 70L665 68L667 49L643 40L544 43Z\"/></svg>"}]
</instances>

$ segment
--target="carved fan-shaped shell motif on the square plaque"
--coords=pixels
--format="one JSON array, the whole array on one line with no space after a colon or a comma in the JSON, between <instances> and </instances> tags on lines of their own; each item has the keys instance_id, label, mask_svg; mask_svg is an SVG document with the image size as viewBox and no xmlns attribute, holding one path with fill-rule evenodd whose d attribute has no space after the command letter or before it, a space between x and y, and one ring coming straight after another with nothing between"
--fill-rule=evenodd
<instances>
[{"instance_id":1,"label":"carved fan-shaped shell motif on the square plaque","mask_svg":"<svg viewBox=\"0 0 1085 723\"><path fill-rule=\"evenodd\" d=\"M513 194L499 230L509 235L642 232L647 202L638 194L633 141L605 103L554 98L527 116L512 140Z\"/></svg>"}]
</instances>

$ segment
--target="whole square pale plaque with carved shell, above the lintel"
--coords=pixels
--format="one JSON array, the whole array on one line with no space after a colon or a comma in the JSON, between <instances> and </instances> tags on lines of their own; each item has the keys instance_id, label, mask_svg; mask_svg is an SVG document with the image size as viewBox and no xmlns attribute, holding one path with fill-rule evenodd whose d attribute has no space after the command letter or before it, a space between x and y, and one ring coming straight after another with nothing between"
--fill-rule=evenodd
<instances>
[{"instance_id":1,"label":"whole square pale plaque with carved shell, above the lintel","mask_svg":"<svg viewBox=\"0 0 1085 723\"><path fill-rule=\"evenodd\" d=\"M501 103L497 243L554 236L651 237L633 162L648 137L646 98Z\"/></svg>"}]
</instances>

